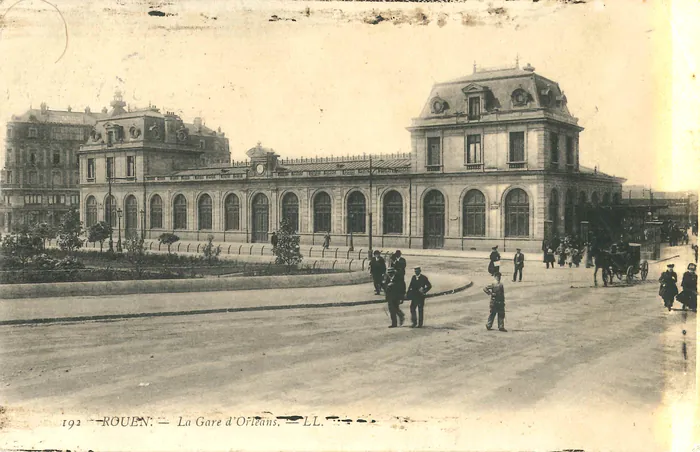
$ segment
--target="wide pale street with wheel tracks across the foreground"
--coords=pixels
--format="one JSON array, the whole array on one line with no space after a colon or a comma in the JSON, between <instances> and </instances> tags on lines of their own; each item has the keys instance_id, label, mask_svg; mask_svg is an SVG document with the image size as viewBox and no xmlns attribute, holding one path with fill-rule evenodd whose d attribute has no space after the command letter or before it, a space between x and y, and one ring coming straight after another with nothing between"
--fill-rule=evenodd
<instances>
[{"instance_id":1,"label":"wide pale street with wheel tracks across the foreground","mask_svg":"<svg viewBox=\"0 0 700 452\"><path fill-rule=\"evenodd\" d=\"M689 252L665 253L682 254L680 276ZM6 422L267 411L376 419L382 434L365 448L670 448L694 397L696 318L662 309L655 281L665 262L652 265L651 282L594 288L592 269L545 270L538 257L524 282L506 275L508 333L484 328L484 261L434 257L409 266L420 260L428 275L475 286L429 299L424 329L388 329L383 305L3 326Z\"/></svg>"}]
</instances>

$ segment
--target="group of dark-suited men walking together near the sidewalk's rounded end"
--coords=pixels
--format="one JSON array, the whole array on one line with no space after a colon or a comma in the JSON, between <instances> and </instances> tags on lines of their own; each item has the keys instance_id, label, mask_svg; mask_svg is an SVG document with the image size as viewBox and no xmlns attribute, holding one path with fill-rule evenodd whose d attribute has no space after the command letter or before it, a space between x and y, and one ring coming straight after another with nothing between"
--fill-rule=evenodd
<instances>
[{"instance_id":1,"label":"group of dark-suited men walking together near the sidewalk's rounded end","mask_svg":"<svg viewBox=\"0 0 700 452\"><path fill-rule=\"evenodd\" d=\"M389 328L403 325L406 316L401 310L401 304L403 304L404 299L411 300L411 327L422 328L425 295L433 286L428 278L421 273L421 268L414 267L415 274L406 288L406 259L401 256L401 251L396 250L389 257L387 265L381 251L375 250L369 264L369 271L372 275L374 293L380 295L381 291L384 291L391 318Z\"/></svg>"}]
</instances>

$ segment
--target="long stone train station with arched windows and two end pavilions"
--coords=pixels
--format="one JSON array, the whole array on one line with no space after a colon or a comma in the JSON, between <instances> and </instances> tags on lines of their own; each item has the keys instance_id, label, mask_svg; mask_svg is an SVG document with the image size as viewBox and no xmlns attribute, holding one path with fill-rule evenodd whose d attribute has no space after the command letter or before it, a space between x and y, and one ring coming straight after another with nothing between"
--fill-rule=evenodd
<instances>
[{"instance_id":1,"label":"long stone train station with arched windows and two end pavilions","mask_svg":"<svg viewBox=\"0 0 700 452\"><path fill-rule=\"evenodd\" d=\"M288 218L304 244L366 248L371 231L374 248L539 250L620 202L624 179L579 165L583 128L530 65L435 84L407 129L406 154L285 159L258 144L231 164L224 134L176 115L100 118L78 151L82 220L267 242Z\"/></svg>"}]
</instances>

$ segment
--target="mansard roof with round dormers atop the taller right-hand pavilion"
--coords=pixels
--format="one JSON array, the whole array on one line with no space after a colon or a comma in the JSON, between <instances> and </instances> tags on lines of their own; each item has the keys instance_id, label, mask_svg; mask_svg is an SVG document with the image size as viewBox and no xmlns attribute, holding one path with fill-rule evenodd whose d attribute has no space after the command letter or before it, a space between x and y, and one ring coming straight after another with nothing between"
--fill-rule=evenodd
<instances>
[{"instance_id":1,"label":"mansard roof with round dormers atop the taller right-hand pavilion","mask_svg":"<svg viewBox=\"0 0 700 452\"><path fill-rule=\"evenodd\" d=\"M539 110L575 124L567 107L566 96L554 82L535 73L535 68L478 70L465 77L433 85L420 119L464 116L468 111L468 95L483 93L485 105L481 113L488 117L515 111ZM437 108L435 107L437 105Z\"/></svg>"}]
</instances>

